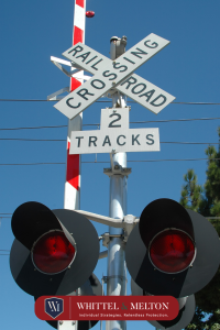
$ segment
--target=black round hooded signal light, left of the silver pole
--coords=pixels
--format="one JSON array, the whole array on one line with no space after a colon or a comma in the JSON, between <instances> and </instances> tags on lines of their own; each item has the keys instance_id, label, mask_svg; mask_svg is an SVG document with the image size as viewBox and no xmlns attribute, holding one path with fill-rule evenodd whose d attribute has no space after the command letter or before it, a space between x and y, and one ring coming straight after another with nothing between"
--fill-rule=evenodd
<instances>
[{"instance_id":1,"label":"black round hooded signal light, left of the silver pole","mask_svg":"<svg viewBox=\"0 0 220 330\"><path fill-rule=\"evenodd\" d=\"M10 253L11 273L30 295L68 295L80 287L96 267L98 234L80 213L50 210L30 201L14 211L11 226L15 237ZM59 243L54 240L55 233Z\"/></svg>"}]
</instances>

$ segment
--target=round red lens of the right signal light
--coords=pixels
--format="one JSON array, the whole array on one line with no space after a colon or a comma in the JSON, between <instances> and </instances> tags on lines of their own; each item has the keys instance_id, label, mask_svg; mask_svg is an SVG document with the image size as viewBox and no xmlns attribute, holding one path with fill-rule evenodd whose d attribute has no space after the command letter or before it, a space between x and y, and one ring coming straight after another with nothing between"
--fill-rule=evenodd
<instances>
[{"instance_id":1,"label":"round red lens of the right signal light","mask_svg":"<svg viewBox=\"0 0 220 330\"><path fill-rule=\"evenodd\" d=\"M195 256L195 245L185 232L165 230L151 243L150 256L156 268L166 273L178 273L190 265Z\"/></svg>"}]
</instances>

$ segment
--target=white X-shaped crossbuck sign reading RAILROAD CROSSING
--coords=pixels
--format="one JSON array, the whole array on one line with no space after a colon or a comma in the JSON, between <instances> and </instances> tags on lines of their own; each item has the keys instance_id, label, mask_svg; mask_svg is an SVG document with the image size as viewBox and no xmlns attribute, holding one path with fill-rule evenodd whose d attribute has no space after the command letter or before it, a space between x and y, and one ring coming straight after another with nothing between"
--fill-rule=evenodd
<instances>
[{"instance_id":1,"label":"white X-shaped crossbuck sign reading RAILROAD CROSSING","mask_svg":"<svg viewBox=\"0 0 220 330\"><path fill-rule=\"evenodd\" d=\"M133 72L168 44L169 41L151 33L116 61L81 43L72 46L63 55L95 76L54 107L73 119L107 91L116 88L152 112L158 113L175 97Z\"/></svg>"}]
</instances>

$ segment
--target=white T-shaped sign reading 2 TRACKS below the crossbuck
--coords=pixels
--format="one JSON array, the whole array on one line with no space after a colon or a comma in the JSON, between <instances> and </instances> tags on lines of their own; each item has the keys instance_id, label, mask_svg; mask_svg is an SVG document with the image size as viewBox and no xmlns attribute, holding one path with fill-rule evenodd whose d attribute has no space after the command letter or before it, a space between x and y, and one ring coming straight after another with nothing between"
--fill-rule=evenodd
<instances>
[{"instance_id":1,"label":"white T-shaped sign reading 2 TRACKS below the crossbuck","mask_svg":"<svg viewBox=\"0 0 220 330\"><path fill-rule=\"evenodd\" d=\"M129 129L129 108L101 109L100 130L73 131L69 154L160 151L158 129Z\"/></svg>"}]
</instances>

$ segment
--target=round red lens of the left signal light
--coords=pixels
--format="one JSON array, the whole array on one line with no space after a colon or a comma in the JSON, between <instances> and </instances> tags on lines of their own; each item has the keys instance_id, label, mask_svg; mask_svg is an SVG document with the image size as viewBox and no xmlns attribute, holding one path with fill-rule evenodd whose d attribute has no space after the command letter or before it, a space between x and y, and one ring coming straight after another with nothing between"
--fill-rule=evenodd
<instances>
[{"instance_id":1,"label":"round red lens of the left signal light","mask_svg":"<svg viewBox=\"0 0 220 330\"><path fill-rule=\"evenodd\" d=\"M63 232L44 234L34 245L33 262L43 273L56 274L68 267L75 256L75 248Z\"/></svg>"}]
</instances>

